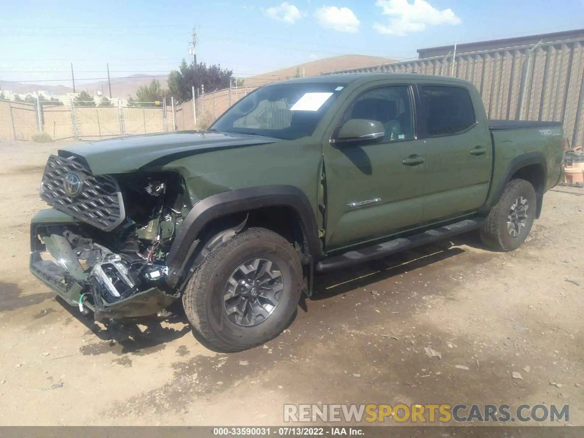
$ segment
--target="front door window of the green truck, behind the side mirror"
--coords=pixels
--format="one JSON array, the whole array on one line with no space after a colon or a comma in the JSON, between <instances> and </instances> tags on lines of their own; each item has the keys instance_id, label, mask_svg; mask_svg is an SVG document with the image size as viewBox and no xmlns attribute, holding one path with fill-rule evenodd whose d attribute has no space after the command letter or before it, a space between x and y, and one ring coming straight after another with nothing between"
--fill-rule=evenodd
<instances>
[{"instance_id":1,"label":"front door window of the green truck, behind the side mirror","mask_svg":"<svg viewBox=\"0 0 584 438\"><path fill-rule=\"evenodd\" d=\"M409 86L385 86L361 94L347 109L343 123L351 119L377 120L385 128L385 141L413 138Z\"/></svg>"}]
</instances>

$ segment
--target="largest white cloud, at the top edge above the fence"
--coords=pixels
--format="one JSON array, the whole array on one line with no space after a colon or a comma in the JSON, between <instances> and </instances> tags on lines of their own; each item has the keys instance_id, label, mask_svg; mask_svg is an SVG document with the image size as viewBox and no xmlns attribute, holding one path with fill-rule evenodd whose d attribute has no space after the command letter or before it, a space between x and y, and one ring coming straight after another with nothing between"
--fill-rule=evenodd
<instances>
[{"instance_id":1,"label":"largest white cloud, at the top edge above the fence","mask_svg":"<svg viewBox=\"0 0 584 438\"><path fill-rule=\"evenodd\" d=\"M390 16L387 25L375 23L374 29L379 33L405 36L411 32L421 32L427 26L436 25L460 25L462 20L458 18L452 9L434 8L426 0L377 0L383 15Z\"/></svg>"}]
</instances>

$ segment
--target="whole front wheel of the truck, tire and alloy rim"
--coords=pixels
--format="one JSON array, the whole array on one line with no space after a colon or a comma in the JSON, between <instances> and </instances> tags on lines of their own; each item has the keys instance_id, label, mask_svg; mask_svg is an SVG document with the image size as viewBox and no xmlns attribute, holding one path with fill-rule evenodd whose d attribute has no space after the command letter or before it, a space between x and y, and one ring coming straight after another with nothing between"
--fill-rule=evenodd
<instances>
[{"instance_id":1,"label":"whole front wheel of the truck, tire and alloy rim","mask_svg":"<svg viewBox=\"0 0 584 438\"><path fill-rule=\"evenodd\" d=\"M183 305L208 343L237 352L286 328L302 281L300 257L290 242L265 228L250 228L207 256L185 288Z\"/></svg>"}]
</instances>

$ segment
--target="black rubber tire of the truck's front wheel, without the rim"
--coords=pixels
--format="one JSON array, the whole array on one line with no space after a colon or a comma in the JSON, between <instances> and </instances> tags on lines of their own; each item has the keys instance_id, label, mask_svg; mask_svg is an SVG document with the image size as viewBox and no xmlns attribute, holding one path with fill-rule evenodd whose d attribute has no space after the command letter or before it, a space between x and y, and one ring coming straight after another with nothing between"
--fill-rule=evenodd
<instances>
[{"instance_id":1,"label":"black rubber tire of the truck's front wheel, without the rim","mask_svg":"<svg viewBox=\"0 0 584 438\"><path fill-rule=\"evenodd\" d=\"M284 288L279 304L256 326L234 324L223 309L225 284L239 265L260 257L280 267ZM297 310L302 281L300 255L290 242L266 228L249 228L207 256L187 283L183 306L194 331L210 346L238 352L261 345L286 328Z\"/></svg>"}]
</instances>

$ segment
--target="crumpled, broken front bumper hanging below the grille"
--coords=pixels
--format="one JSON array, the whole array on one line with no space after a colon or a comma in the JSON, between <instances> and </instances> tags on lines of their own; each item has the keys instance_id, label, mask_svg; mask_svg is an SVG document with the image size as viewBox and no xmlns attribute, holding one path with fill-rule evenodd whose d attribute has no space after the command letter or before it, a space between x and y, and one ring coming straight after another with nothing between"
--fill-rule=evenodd
<instances>
[{"instance_id":1,"label":"crumpled, broken front bumper hanging below the grille","mask_svg":"<svg viewBox=\"0 0 584 438\"><path fill-rule=\"evenodd\" d=\"M96 321L154 315L178 298L164 290L164 267L134 267L53 208L32 218L29 268L68 304L91 310Z\"/></svg>"}]
</instances>

